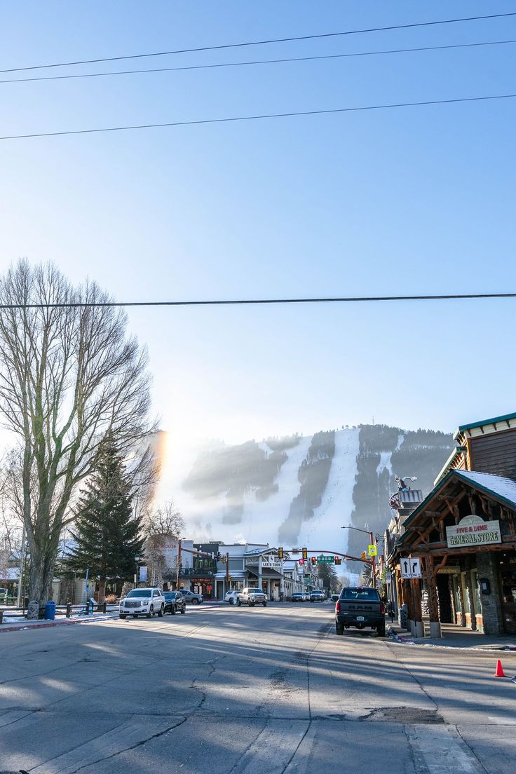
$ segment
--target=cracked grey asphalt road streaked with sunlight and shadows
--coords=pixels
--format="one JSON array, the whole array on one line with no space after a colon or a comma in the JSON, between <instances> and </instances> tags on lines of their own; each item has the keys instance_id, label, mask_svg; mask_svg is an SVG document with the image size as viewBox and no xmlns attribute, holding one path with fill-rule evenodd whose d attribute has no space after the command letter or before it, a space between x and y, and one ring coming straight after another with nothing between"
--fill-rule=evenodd
<instances>
[{"instance_id":1,"label":"cracked grey asphalt road streaked with sunlight and shadows","mask_svg":"<svg viewBox=\"0 0 516 774\"><path fill-rule=\"evenodd\" d=\"M337 637L330 604L0 638L0 771L514 772L516 653Z\"/></svg>"}]
</instances>

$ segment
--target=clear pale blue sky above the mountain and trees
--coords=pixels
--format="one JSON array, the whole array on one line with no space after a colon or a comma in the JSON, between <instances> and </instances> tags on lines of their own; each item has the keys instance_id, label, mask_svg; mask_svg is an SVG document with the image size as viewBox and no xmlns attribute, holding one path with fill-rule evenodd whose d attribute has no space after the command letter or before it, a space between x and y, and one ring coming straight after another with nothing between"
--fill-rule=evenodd
<instances>
[{"instance_id":1,"label":"clear pale blue sky above the mountain and trees","mask_svg":"<svg viewBox=\"0 0 516 774\"><path fill-rule=\"evenodd\" d=\"M2 68L514 12L514 2L2 4ZM101 63L516 39L516 17ZM516 93L516 43L0 84L2 135ZM18 74L17 77L31 73ZM12 77L4 74L0 78ZM516 100L0 142L0 262L118 300L516 290ZM516 409L516 302L145 309L173 445Z\"/></svg>"}]
</instances>

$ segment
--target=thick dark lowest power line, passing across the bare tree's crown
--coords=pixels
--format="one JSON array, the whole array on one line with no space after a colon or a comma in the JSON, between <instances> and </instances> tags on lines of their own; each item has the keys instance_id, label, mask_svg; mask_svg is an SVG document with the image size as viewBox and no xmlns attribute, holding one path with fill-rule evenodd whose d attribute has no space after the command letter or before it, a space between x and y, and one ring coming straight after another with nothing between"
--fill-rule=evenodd
<instances>
[{"instance_id":1,"label":"thick dark lowest power line, passing across the bare tree's crown","mask_svg":"<svg viewBox=\"0 0 516 774\"><path fill-rule=\"evenodd\" d=\"M68 309L92 307L231 307L285 303L356 303L379 301L463 301L516 298L516 293L446 293L433 296L330 296L320 298L255 298L207 301L103 301L95 303L0 303L8 309Z\"/></svg>"}]
</instances>

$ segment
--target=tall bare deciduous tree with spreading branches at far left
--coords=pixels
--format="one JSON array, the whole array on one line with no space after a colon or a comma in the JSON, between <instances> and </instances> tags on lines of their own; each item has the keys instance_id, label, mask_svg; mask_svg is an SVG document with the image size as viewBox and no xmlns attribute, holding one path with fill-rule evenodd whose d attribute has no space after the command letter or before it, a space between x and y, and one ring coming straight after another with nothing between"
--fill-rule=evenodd
<instances>
[{"instance_id":1,"label":"tall bare deciduous tree with spreading branches at far left","mask_svg":"<svg viewBox=\"0 0 516 774\"><path fill-rule=\"evenodd\" d=\"M0 409L19 439L17 493L31 558L29 597L51 593L60 533L106 433L121 448L149 432L145 350L125 313L87 281L20 261L0 282Z\"/></svg>"}]
</instances>

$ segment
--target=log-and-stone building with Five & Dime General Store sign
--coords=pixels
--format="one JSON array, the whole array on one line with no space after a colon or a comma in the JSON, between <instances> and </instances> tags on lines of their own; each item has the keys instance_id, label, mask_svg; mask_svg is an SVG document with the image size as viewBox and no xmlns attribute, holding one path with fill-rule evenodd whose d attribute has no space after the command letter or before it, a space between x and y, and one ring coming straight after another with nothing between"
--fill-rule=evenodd
<instances>
[{"instance_id":1,"label":"log-and-stone building with Five & Dime General Store sign","mask_svg":"<svg viewBox=\"0 0 516 774\"><path fill-rule=\"evenodd\" d=\"M434 488L390 536L398 601L414 635L424 613L430 636L441 623L516 634L516 413L461 426L454 439ZM421 579L402 577L410 559Z\"/></svg>"}]
</instances>

